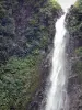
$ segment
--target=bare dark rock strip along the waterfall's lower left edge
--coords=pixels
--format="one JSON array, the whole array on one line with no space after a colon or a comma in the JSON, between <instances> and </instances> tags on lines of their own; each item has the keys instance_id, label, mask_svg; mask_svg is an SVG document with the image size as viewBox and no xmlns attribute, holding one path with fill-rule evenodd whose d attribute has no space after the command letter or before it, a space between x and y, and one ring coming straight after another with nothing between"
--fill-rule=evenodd
<instances>
[{"instance_id":1,"label":"bare dark rock strip along the waterfall's lower left edge","mask_svg":"<svg viewBox=\"0 0 82 110\"><path fill-rule=\"evenodd\" d=\"M51 56L52 56L52 52L49 53L47 57L44 57L45 61L43 61L42 67L40 67L42 84L37 88L37 91L35 96L33 97L32 102L27 106L27 110L39 110L40 107L45 105L45 102L44 103L42 102L45 98L45 88L46 88L47 78L51 68L51 61L50 61Z\"/></svg>"}]
</instances>

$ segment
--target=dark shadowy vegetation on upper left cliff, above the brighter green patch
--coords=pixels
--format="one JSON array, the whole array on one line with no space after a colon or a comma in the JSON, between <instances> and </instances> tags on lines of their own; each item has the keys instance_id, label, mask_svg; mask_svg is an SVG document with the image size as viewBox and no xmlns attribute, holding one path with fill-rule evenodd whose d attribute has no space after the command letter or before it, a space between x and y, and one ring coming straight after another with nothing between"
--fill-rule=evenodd
<instances>
[{"instance_id":1,"label":"dark shadowy vegetation on upper left cliff, above the brighter green patch","mask_svg":"<svg viewBox=\"0 0 82 110\"><path fill-rule=\"evenodd\" d=\"M60 10L55 0L0 0L0 64L13 55L45 51Z\"/></svg>"}]
</instances>

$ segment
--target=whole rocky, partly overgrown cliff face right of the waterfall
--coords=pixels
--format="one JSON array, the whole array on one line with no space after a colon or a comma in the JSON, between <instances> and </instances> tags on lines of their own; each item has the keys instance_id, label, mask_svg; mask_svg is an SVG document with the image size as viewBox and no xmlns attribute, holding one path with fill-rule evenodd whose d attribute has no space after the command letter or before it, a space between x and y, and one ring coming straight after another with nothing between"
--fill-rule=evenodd
<instances>
[{"instance_id":1,"label":"whole rocky, partly overgrown cliff face right of the waterfall","mask_svg":"<svg viewBox=\"0 0 82 110\"><path fill-rule=\"evenodd\" d=\"M82 2L71 7L67 18L71 72L68 81L69 110L82 110Z\"/></svg>"}]
</instances>

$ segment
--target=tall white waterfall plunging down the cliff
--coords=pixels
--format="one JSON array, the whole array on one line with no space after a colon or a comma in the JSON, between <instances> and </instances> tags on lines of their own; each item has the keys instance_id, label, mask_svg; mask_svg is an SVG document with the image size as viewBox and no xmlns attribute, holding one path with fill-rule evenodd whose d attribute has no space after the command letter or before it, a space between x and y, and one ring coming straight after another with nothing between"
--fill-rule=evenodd
<instances>
[{"instance_id":1,"label":"tall white waterfall plunging down the cliff","mask_svg":"<svg viewBox=\"0 0 82 110\"><path fill-rule=\"evenodd\" d=\"M45 110L66 110L66 13L57 20L56 35L54 40L52 68L49 76L50 87L47 92Z\"/></svg>"}]
</instances>

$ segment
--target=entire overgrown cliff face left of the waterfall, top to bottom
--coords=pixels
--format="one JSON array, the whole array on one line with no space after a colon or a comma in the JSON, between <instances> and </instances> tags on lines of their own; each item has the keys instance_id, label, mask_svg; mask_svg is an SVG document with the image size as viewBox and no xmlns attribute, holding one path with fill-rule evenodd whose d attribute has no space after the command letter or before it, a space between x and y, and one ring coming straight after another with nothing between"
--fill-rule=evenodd
<instances>
[{"instance_id":1,"label":"entire overgrown cliff face left of the waterfall, top to bottom","mask_svg":"<svg viewBox=\"0 0 82 110\"><path fill-rule=\"evenodd\" d=\"M61 14L52 0L0 0L0 110L39 110Z\"/></svg>"}]
</instances>

